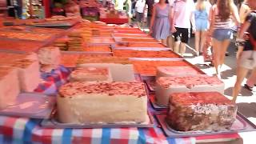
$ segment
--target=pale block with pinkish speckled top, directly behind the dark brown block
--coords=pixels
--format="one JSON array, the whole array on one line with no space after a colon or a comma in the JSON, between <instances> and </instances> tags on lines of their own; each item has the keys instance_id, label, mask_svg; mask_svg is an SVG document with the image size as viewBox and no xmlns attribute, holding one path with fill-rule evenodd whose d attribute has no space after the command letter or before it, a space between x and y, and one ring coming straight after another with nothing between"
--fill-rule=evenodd
<instances>
[{"instance_id":1,"label":"pale block with pinkish speckled top, directly behind the dark brown block","mask_svg":"<svg viewBox=\"0 0 256 144\"><path fill-rule=\"evenodd\" d=\"M161 77L156 82L155 98L159 106L167 106L173 93L217 91L224 94L224 83L206 74Z\"/></svg>"}]
</instances>

